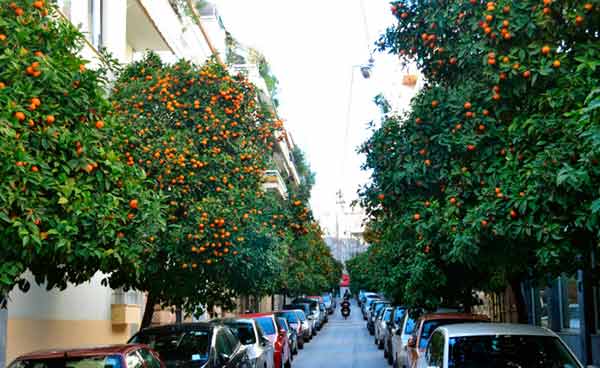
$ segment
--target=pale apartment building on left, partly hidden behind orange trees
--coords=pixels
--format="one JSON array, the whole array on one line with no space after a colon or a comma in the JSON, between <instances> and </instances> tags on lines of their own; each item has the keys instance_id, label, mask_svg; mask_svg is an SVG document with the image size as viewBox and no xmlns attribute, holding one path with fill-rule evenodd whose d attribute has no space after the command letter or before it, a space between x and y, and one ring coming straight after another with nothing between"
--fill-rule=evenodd
<instances>
[{"instance_id":1,"label":"pale apartment building on left, partly hidden behind orange trees","mask_svg":"<svg viewBox=\"0 0 600 368\"><path fill-rule=\"evenodd\" d=\"M106 49L126 64L154 51L172 62L181 58L202 63L226 52L226 32L214 5L199 9L203 29L174 0L58 0L60 16L68 19L86 36L82 50L92 65ZM203 34L203 32L205 34ZM210 40L210 41L209 41ZM245 73L262 91L269 93L258 66L251 61L230 65L232 72ZM270 102L272 103L272 101ZM265 190L274 190L287 199L288 183L299 183L291 155L293 141L284 131L274 153L275 166L265 177ZM47 291L32 282L27 293L13 290L7 309L0 309L0 368L20 354L48 348L123 343L139 329L145 296L102 285L104 275L69 286L64 291ZM275 298L261 301L261 309L273 307ZM279 304L279 303L278 303ZM2 323L2 319L7 323ZM157 310L155 323L175 321L174 313ZM2 331L2 326L7 326ZM5 354L5 355L4 355Z\"/></svg>"}]
</instances>

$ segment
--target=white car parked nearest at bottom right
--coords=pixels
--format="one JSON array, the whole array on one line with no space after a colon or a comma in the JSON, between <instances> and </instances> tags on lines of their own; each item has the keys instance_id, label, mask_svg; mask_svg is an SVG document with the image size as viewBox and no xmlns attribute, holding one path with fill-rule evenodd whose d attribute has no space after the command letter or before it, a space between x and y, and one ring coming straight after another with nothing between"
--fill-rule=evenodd
<instances>
[{"instance_id":1,"label":"white car parked nearest at bottom right","mask_svg":"<svg viewBox=\"0 0 600 368\"><path fill-rule=\"evenodd\" d=\"M552 331L530 325L465 323L438 327L417 368L583 368Z\"/></svg>"}]
</instances>

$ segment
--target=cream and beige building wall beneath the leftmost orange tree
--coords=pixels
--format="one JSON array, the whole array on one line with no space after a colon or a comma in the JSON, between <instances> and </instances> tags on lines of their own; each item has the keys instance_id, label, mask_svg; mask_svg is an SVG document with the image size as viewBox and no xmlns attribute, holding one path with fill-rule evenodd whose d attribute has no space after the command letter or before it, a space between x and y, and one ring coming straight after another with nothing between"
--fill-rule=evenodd
<instances>
[{"instance_id":1,"label":"cream and beige building wall beneath the leftmost orange tree","mask_svg":"<svg viewBox=\"0 0 600 368\"><path fill-rule=\"evenodd\" d=\"M32 282L26 294L11 292L7 362L35 350L127 342L139 326L141 313L132 324L113 325L113 290L102 286L103 277L98 273L64 291L46 291Z\"/></svg>"}]
</instances>

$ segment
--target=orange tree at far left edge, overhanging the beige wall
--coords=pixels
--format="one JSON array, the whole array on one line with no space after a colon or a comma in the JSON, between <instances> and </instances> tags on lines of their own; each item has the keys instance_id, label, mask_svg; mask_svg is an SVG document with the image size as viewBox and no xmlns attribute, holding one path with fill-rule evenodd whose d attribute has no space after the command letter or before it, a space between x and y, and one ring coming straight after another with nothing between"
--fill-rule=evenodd
<instances>
[{"instance_id":1,"label":"orange tree at far left edge, overhanging the beige wall","mask_svg":"<svg viewBox=\"0 0 600 368\"><path fill-rule=\"evenodd\" d=\"M112 144L103 72L86 68L83 36L53 13L0 2L0 295L27 289L27 269L49 289L137 274L142 236L161 226L143 172Z\"/></svg>"}]
</instances>

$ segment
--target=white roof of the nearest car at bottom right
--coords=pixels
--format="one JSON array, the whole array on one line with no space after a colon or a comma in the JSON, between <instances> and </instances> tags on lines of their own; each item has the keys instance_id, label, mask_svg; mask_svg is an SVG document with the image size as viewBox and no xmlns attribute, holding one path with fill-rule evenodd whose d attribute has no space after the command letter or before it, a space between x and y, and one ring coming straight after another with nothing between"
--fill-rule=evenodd
<instances>
[{"instance_id":1,"label":"white roof of the nearest car at bottom right","mask_svg":"<svg viewBox=\"0 0 600 368\"><path fill-rule=\"evenodd\" d=\"M515 323L461 323L438 327L449 337L461 336L496 336L496 335L528 335L552 336L556 334L546 328Z\"/></svg>"}]
</instances>

